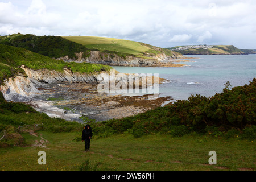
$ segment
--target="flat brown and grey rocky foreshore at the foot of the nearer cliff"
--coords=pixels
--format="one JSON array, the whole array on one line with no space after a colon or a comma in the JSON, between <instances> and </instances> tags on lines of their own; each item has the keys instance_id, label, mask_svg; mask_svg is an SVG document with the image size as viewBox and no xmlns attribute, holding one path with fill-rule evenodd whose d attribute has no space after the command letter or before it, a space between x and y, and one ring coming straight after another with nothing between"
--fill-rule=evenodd
<instances>
[{"instance_id":1,"label":"flat brown and grey rocky foreshore at the foot of the nearer cliff","mask_svg":"<svg viewBox=\"0 0 256 182\"><path fill-rule=\"evenodd\" d=\"M82 122L82 116L96 122L130 117L172 101L170 96L152 99L152 94L100 94L96 84L86 83L49 84L39 90L42 94L26 104L49 117L77 122Z\"/></svg>"}]
</instances>

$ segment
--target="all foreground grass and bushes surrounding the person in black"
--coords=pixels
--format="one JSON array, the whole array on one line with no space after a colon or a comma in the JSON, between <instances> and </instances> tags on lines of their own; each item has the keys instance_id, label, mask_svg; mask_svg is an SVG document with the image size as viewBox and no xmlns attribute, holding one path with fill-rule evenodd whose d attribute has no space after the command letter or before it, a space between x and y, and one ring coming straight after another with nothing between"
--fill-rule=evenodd
<instances>
[{"instance_id":1,"label":"all foreground grass and bushes surrounding the person in black","mask_svg":"<svg viewBox=\"0 0 256 182\"><path fill-rule=\"evenodd\" d=\"M191 96L134 117L89 121L93 140L87 153L83 123L50 118L29 105L7 102L0 93L0 130L7 131L0 141L0 169L255 170L255 86L254 78L211 98ZM32 123L43 123L43 130L16 130ZM46 165L38 164L41 150ZM217 152L213 166L208 164L212 150Z\"/></svg>"}]
</instances>

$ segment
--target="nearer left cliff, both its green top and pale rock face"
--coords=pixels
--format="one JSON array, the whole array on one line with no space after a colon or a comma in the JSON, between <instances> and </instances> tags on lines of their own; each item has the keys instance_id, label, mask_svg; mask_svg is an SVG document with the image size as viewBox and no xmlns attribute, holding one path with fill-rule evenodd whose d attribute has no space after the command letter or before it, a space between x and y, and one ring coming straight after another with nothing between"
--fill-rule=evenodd
<instances>
[{"instance_id":1,"label":"nearer left cliff, both its green top and pale rock face","mask_svg":"<svg viewBox=\"0 0 256 182\"><path fill-rule=\"evenodd\" d=\"M81 56L82 53L78 55L79 58ZM90 56L97 61L97 57L102 55L96 51ZM107 56L104 57L108 58ZM98 84L106 77L109 78L112 69L112 67L102 64L67 63L24 48L3 44L0 44L0 68L0 91L8 100L12 100L11 98L16 96L28 97L31 94L37 94L39 90L36 88L42 83L79 82ZM114 74L117 75L118 72ZM115 83L117 82L119 80L115 80Z\"/></svg>"}]
</instances>

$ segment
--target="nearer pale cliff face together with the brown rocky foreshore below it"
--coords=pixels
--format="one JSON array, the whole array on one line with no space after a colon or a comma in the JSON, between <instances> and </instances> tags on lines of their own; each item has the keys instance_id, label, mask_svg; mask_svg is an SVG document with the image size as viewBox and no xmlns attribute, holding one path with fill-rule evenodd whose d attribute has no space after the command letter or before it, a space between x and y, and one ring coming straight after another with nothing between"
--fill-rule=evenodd
<instances>
[{"instance_id":1,"label":"nearer pale cliff face together with the brown rocky foreshore below it","mask_svg":"<svg viewBox=\"0 0 256 182\"><path fill-rule=\"evenodd\" d=\"M3 96L9 101L26 102L50 117L82 122L80 117L84 116L104 121L143 113L171 101L171 97L158 97L158 94L99 93L98 83L109 74L105 72L86 74L73 73L67 68L63 72L21 68L26 76L6 79L0 87ZM154 77L147 78L151 78L153 85L167 81L159 78L154 82Z\"/></svg>"}]
</instances>

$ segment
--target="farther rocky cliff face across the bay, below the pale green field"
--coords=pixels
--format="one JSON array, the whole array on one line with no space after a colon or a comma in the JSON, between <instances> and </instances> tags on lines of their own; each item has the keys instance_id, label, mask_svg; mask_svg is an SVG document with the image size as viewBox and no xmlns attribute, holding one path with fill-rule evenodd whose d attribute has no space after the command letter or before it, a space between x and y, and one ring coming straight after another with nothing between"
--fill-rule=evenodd
<instances>
[{"instance_id":1,"label":"farther rocky cliff face across the bay, below the pale green field","mask_svg":"<svg viewBox=\"0 0 256 182\"><path fill-rule=\"evenodd\" d=\"M182 55L179 55L178 53L173 56L166 56L165 53L159 53L156 56L151 56L151 55L145 55L148 57L142 58L142 57L135 57L135 56L125 56L121 57L118 55L115 55L113 53L106 53L106 52L100 52L100 51L90 51L90 56L89 57L83 57L84 53L75 53L77 58L71 58L68 56L65 57L60 57L59 59L62 59L67 62L71 61L76 61L76 62L88 62L88 63L97 63L97 64L106 64L106 65L111 65L111 66L130 66L130 67L139 67L139 66L157 66L164 61L170 61L171 59L181 59L183 58Z\"/></svg>"}]
</instances>

